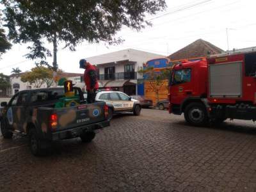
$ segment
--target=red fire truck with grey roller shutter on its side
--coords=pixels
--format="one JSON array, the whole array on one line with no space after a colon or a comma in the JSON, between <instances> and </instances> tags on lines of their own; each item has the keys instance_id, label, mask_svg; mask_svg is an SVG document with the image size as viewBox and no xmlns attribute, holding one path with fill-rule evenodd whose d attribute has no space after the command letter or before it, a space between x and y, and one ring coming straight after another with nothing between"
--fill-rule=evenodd
<instances>
[{"instance_id":1,"label":"red fire truck with grey roller shutter on its side","mask_svg":"<svg viewBox=\"0 0 256 192\"><path fill-rule=\"evenodd\" d=\"M182 61L173 67L170 108L189 124L256 120L256 47Z\"/></svg>"}]
</instances>

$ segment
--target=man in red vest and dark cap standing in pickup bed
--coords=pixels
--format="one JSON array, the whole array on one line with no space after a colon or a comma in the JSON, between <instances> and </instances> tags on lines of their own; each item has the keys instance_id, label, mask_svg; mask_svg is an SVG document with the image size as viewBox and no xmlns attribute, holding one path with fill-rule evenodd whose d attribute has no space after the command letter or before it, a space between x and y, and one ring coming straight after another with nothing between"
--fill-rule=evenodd
<instances>
[{"instance_id":1,"label":"man in red vest and dark cap standing in pickup bed","mask_svg":"<svg viewBox=\"0 0 256 192\"><path fill-rule=\"evenodd\" d=\"M87 102L93 103L95 102L96 91L99 88L99 84L97 81L97 70L96 68L86 60L79 61L80 68L84 68L84 82L86 84L87 94Z\"/></svg>"}]
</instances>

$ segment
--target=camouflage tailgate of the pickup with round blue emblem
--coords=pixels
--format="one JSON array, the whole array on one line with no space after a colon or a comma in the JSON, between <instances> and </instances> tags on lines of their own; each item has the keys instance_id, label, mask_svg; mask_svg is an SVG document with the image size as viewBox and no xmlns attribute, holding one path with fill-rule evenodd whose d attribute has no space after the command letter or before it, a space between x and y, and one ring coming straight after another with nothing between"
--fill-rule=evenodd
<instances>
[{"instance_id":1,"label":"camouflage tailgate of the pickup with round blue emblem","mask_svg":"<svg viewBox=\"0 0 256 192\"><path fill-rule=\"evenodd\" d=\"M95 102L93 104L56 109L58 125L55 131L83 127L106 120L104 113L105 104L105 102Z\"/></svg>"}]
</instances>

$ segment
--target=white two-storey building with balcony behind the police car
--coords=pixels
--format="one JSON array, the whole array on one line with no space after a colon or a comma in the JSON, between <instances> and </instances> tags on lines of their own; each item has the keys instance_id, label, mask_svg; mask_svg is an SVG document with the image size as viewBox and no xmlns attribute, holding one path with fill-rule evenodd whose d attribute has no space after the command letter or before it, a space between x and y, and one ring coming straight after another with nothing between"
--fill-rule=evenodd
<instances>
[{"instance_id":1,"label":"white two-storey building with balcony behind the police car","mask_svg":"<svg viewBox=\"0 0 256 192\"><path fill-rule=\"evenodd\" d=\"M97 66L101 88L115 88L128 95L136 95L140 90L137 86L138 79L142 79L138 70L143 68L146 61L163 57L152 52L125 49L86 60Z\"/></svg>"}]
</instances>

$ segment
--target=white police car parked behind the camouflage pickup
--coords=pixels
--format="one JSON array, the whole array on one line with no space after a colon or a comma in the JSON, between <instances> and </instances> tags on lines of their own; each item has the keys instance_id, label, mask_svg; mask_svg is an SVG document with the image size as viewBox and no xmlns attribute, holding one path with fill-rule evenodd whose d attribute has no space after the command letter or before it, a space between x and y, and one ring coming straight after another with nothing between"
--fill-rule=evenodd
<instances>
[{"instance_id":1,"label":"white police car parked behind the camouflage pickup","mask_svg":"<svg viewBox=\"0 0 256 192\"><path fill-rule=\"evenodd\" d=\"M112 118L114 113L121 112L132 112L134 115L140 115L140 102L138 100L132 99L123 92L98 92L95 100L103 100L106 102L109 108L109 118Z\"/></svg>"}]
</instances>

